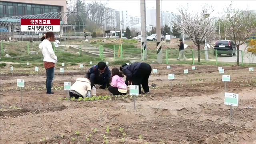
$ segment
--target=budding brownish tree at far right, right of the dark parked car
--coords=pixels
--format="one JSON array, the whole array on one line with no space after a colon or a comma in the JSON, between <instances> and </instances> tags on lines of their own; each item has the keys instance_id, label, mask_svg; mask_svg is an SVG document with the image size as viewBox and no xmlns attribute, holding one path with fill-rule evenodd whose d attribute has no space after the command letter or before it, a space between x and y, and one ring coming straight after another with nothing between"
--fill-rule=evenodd
<instances>
[{"instance_id":1,"label":"budding brownish tree at far right, right of the dark parked car","mask_svg":"<svg viewBox=\"0 0 256 144\"><path fill-rule=\"evenodd\" d=\"M234 40L237 48L237 60L236 64L239 65L239 47L244 44L250 34L256 32L256 16L250 12L243 10L235 10L231 8L226 8L225 12L236 13L234 16L228 15L225 24L226 35Z\"/></svg>"}]
</instances>

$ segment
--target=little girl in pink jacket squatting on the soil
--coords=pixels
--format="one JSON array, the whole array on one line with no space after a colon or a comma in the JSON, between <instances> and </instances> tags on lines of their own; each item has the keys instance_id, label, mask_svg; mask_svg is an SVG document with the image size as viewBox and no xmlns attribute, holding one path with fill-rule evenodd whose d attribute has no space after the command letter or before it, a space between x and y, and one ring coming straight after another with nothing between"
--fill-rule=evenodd
<instances>
[{"instance_id":1,"label":"little girl in pink jacket squatting on the soil","mask_svg":"<svg viewBox=\"0 0 256 144\"><path fill-rule=\"evenodd\" d=\"M118 68L113 68L111 70L112 82L111 86L108 87L108 91L111 92L114 96L116 95L126 95L127 86L123 80L123 73L118 70Z\"/></svg>"}]
</instances>

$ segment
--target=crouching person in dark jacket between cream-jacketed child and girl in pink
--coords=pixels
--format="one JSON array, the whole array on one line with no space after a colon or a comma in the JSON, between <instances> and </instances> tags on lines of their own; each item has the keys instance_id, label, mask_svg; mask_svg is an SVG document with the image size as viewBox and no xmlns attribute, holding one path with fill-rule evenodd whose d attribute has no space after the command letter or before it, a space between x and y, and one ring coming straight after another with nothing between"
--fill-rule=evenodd
<instances>
[{"instance_id":1,"label":"crouching person in dark jacket between cream-jacketed child and girl in pink","mask_svg":"<svg viewBox=\"0 0 256 144\"><path fill-rule=\"evenodd\" d=\"M97 65L92 66L86 76L91 82L91 87L94 86L94 84L100 84L101 89L106 89L110 85L111 81L111 71L106 66L105 62L99 62Z\"/></svg>"}]
</instances>

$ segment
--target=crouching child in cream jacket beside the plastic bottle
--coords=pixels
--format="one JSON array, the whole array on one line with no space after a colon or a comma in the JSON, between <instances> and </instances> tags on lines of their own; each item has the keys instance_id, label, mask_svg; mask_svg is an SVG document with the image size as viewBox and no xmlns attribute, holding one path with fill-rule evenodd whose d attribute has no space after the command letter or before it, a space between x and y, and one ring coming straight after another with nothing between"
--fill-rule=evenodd
<instances>
[{"instance_id":1,"label":"crouching child in cream jacket beside the plastic bottle","mask_svg":"<svg viewBox=\"0 0 256 144\"><path fill-rule=\"evenodd\" d=\"M91 91L91 83L88 78L77 78L76 82L70 88L69 96L70 98L75 97L76 99L79 97L90 97Z\"/></svg>"}]
</instances>

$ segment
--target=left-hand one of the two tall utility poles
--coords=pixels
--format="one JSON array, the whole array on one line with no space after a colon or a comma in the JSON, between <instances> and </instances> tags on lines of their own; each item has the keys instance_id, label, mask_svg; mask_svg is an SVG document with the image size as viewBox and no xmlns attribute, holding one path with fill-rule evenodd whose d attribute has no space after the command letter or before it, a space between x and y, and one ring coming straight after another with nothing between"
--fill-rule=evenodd
<instances>
[{"instance_id":1,"label":"left-hand one of the two tall utility poles","mask_svg":"<svg viewBox=\"0 0 256 144\"><path fill-rule=\"evenodd\" d=\"M141 58L143 60L143 49L144 58L147 58L146 49L146 0L140 0L140 27L141 27Z\"/></svg>"}]
</instances>

